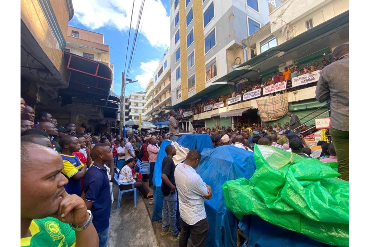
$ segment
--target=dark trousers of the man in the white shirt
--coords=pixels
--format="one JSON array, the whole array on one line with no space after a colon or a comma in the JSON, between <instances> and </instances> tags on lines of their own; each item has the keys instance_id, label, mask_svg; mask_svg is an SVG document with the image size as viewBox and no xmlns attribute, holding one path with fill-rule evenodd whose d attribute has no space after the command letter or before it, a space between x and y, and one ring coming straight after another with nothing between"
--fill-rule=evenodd
<instances>
[{"instance_id":1,"label":"dark trousers of the man in the white shirt","mask_svg":"<svg viewBox=\"0 0 370 247\"><path fill-rule=\"evenodd\" d=\"M192 247L203 247L208 232L208 219L199 220L194 225L188 225L181 219L181 234L179 247L187 247L191 236Z\"/></svg>"}]
</instances>

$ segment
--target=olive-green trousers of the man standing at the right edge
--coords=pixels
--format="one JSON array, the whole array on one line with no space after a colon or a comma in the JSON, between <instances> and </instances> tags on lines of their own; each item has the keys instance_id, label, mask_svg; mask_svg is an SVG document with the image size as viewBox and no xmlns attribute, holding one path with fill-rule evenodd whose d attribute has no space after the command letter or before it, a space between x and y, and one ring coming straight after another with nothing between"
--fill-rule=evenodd
<instances>
[{"instance_id":1,"label":"olive-green trousers of the man standing at the right edge","mask_svg":"<svg viewBox=\"0 0 370 247\"><path fill-rule=\"evenodd\" d=\"M330 134L337 153L339 178L349 181L349 131L330 128Z\"/></svg>"}]
</instances>

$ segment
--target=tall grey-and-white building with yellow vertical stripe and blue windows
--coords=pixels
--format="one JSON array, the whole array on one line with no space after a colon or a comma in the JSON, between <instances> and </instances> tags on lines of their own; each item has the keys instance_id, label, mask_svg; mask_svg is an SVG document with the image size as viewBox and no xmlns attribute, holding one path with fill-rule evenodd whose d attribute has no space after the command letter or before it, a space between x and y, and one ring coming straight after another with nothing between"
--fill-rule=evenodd
<instances>
[{"instance_id":1,"label":"tall grey-and-white building with yellow vertical stripe and blue windows","mask_svg":"<svg viewBox=\"0 0 370 247\"><path fill-rule=\"evenodd\" d=\"M246 60L243 39L268 23L269 7L266 0L171 0L173 107L229 89L213 82Z\"/></svg>"}]
</instances>

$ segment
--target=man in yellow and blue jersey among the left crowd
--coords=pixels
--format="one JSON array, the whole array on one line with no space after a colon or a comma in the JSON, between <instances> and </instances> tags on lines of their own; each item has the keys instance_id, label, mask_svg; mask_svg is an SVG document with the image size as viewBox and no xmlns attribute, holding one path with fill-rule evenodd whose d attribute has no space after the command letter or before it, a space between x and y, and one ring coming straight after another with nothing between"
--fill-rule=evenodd
<instances>
[{"instance_id":1,"label":"man in yellow and blue jersey among the left crowd","mask_svg":"<svg viewBox=\"0 0 370 247\"><path fill-rule=\"evenodd\" d=\"M62 148L60 156L64 164L62 173L68 178L68 184L64 188L68 194L81 196L81 178L85 176L86 166L73 154L81 148L78 138L70 135L63 136L60 138L59 145Z\"/></svg>"}]
</instances>

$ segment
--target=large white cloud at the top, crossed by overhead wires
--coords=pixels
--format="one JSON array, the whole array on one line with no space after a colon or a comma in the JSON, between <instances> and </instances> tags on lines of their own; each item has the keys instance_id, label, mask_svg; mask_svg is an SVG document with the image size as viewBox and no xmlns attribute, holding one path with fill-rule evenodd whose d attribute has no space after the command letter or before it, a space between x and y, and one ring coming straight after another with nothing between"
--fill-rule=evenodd
<instances>
[{"instance_id":1,"label":"large white cloud at the top, crossed by overhead wires","mask_svg":"<svg viewBox=\"0 0 370 247\"><path fill-rule=\"evenodd\" d=\"M132 2L133 0L73 0L74 16L92 30L113 27L128 32ZM136 28L140 6L141 1L135 1L131 24L133 29ZM141 33L151 46L159 49L169 46L169 16L161 0L145 0L141 23Z\"/></svg>"}]
</instances>

